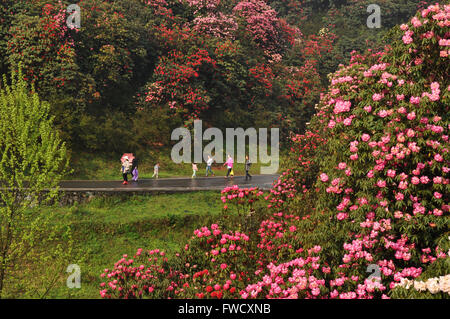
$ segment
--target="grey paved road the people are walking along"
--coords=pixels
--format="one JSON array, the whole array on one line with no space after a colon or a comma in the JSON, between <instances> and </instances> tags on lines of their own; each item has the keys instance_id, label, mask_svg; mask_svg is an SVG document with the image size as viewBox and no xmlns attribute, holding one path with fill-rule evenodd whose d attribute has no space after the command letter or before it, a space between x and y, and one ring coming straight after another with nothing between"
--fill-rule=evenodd
<instances>
[{"instance_id":1,"label":"grey paved road the people are walking along","mask_svg":"<svg viewBox=\"0 0 450 319\"><path fill-rule=\"evenodd\" d=\"M197 178L160 178L141 179L138 182L130 181L128 185L122 185L122 181L62 181L61 190L66 192L186 192L199 190L222 190L226 186L238 185L239 187L259 187L263 190L271 188L278 175L254 175L252 179L245 180L244 176L235 176L225 179L220 177Z\"/></svg>"}]
</instances>

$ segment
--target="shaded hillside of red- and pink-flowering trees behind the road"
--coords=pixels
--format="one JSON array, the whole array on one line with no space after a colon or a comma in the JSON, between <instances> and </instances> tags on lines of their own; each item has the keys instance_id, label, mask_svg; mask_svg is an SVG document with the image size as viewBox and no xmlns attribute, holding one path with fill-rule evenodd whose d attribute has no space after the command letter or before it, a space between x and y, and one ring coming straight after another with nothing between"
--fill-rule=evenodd
<instances>
[{"instance_id":1,"label":"shaded hillside of red- and pink-flowering trees behind the road","mask_svg":"<svg viewBox=\"0 0 450 319\"><path fill-rule=\"evenodd\" d=\"M170 133L205 126L304 131L328 74L428 2L82 0L81 28L66 25L71 1L0 3L0 72L22 64L50 102L72 157L170 147ZM430 1L431 2L431 1ZM151 157L151 156L150 156Z\"/></svg>"}]
</instances>

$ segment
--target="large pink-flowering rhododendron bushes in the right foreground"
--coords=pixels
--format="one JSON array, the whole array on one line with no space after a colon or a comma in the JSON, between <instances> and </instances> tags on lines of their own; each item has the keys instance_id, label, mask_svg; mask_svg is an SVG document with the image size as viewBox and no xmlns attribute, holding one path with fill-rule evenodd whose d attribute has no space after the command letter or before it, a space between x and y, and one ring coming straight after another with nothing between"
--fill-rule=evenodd
<instances>
[{"instance_id":1,"label":"large pink-flowering rhododendron bushes in the right foreground","mask_svg":"<svg viewBox=\"0 0 450 319\"><path fill-rule=\"evenodd\" d=\"M430 6L354 54L269 194L225 189L217 224L168 259L122 259L101 295L448 298L449 25Z\"/></svg>"}]
</instances>

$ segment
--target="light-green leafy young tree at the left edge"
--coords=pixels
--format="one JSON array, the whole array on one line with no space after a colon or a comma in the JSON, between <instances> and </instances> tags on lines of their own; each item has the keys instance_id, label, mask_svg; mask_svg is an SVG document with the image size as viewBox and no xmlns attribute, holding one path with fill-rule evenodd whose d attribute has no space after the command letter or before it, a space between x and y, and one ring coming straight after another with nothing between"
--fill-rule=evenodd
<instances>
[{"instance_id":1,"label":"light-green leafy young tree at the left edge","mask_svg":"<svg viewBox=\"0 0 450 319\"><path fill-rule=\"evenodd\" d=\"M71 254L69 230L52 226L51 214L41 214L36 207L54 202L68 167L65 143L54 130L49 112L50 105L23 80L21 68L12 73L10 84L3 76L0 297L46 296Z\"/></svg>"}]
</instances>

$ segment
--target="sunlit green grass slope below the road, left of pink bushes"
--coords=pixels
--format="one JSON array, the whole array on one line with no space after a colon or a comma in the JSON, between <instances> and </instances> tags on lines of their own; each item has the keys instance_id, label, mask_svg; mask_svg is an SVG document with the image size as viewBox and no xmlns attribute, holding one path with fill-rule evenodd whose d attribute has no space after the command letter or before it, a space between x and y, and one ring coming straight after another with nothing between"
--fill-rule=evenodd
<instances>
[{"instance_id":1,"label":"sunlit green grass slope below the road, left of pink bushes","mask_svg":"<svg viewBox=\"0 0 450 319\"><path fill-rule=\"evenodd\" d=\"M94 199L56 210L52 222L70 225L81 262L81 288L69 289L65 279L50 298L99 298L99 275L112 268L123 254L138 248L159 248L168 253L184 246L193 231L211 223L221 212L218 192ZM75 257L74 257L75 258ZM68 260L67 264L75 263ZM67 278L68 274L63 274Z\"/></svg>"}]
</instances>

